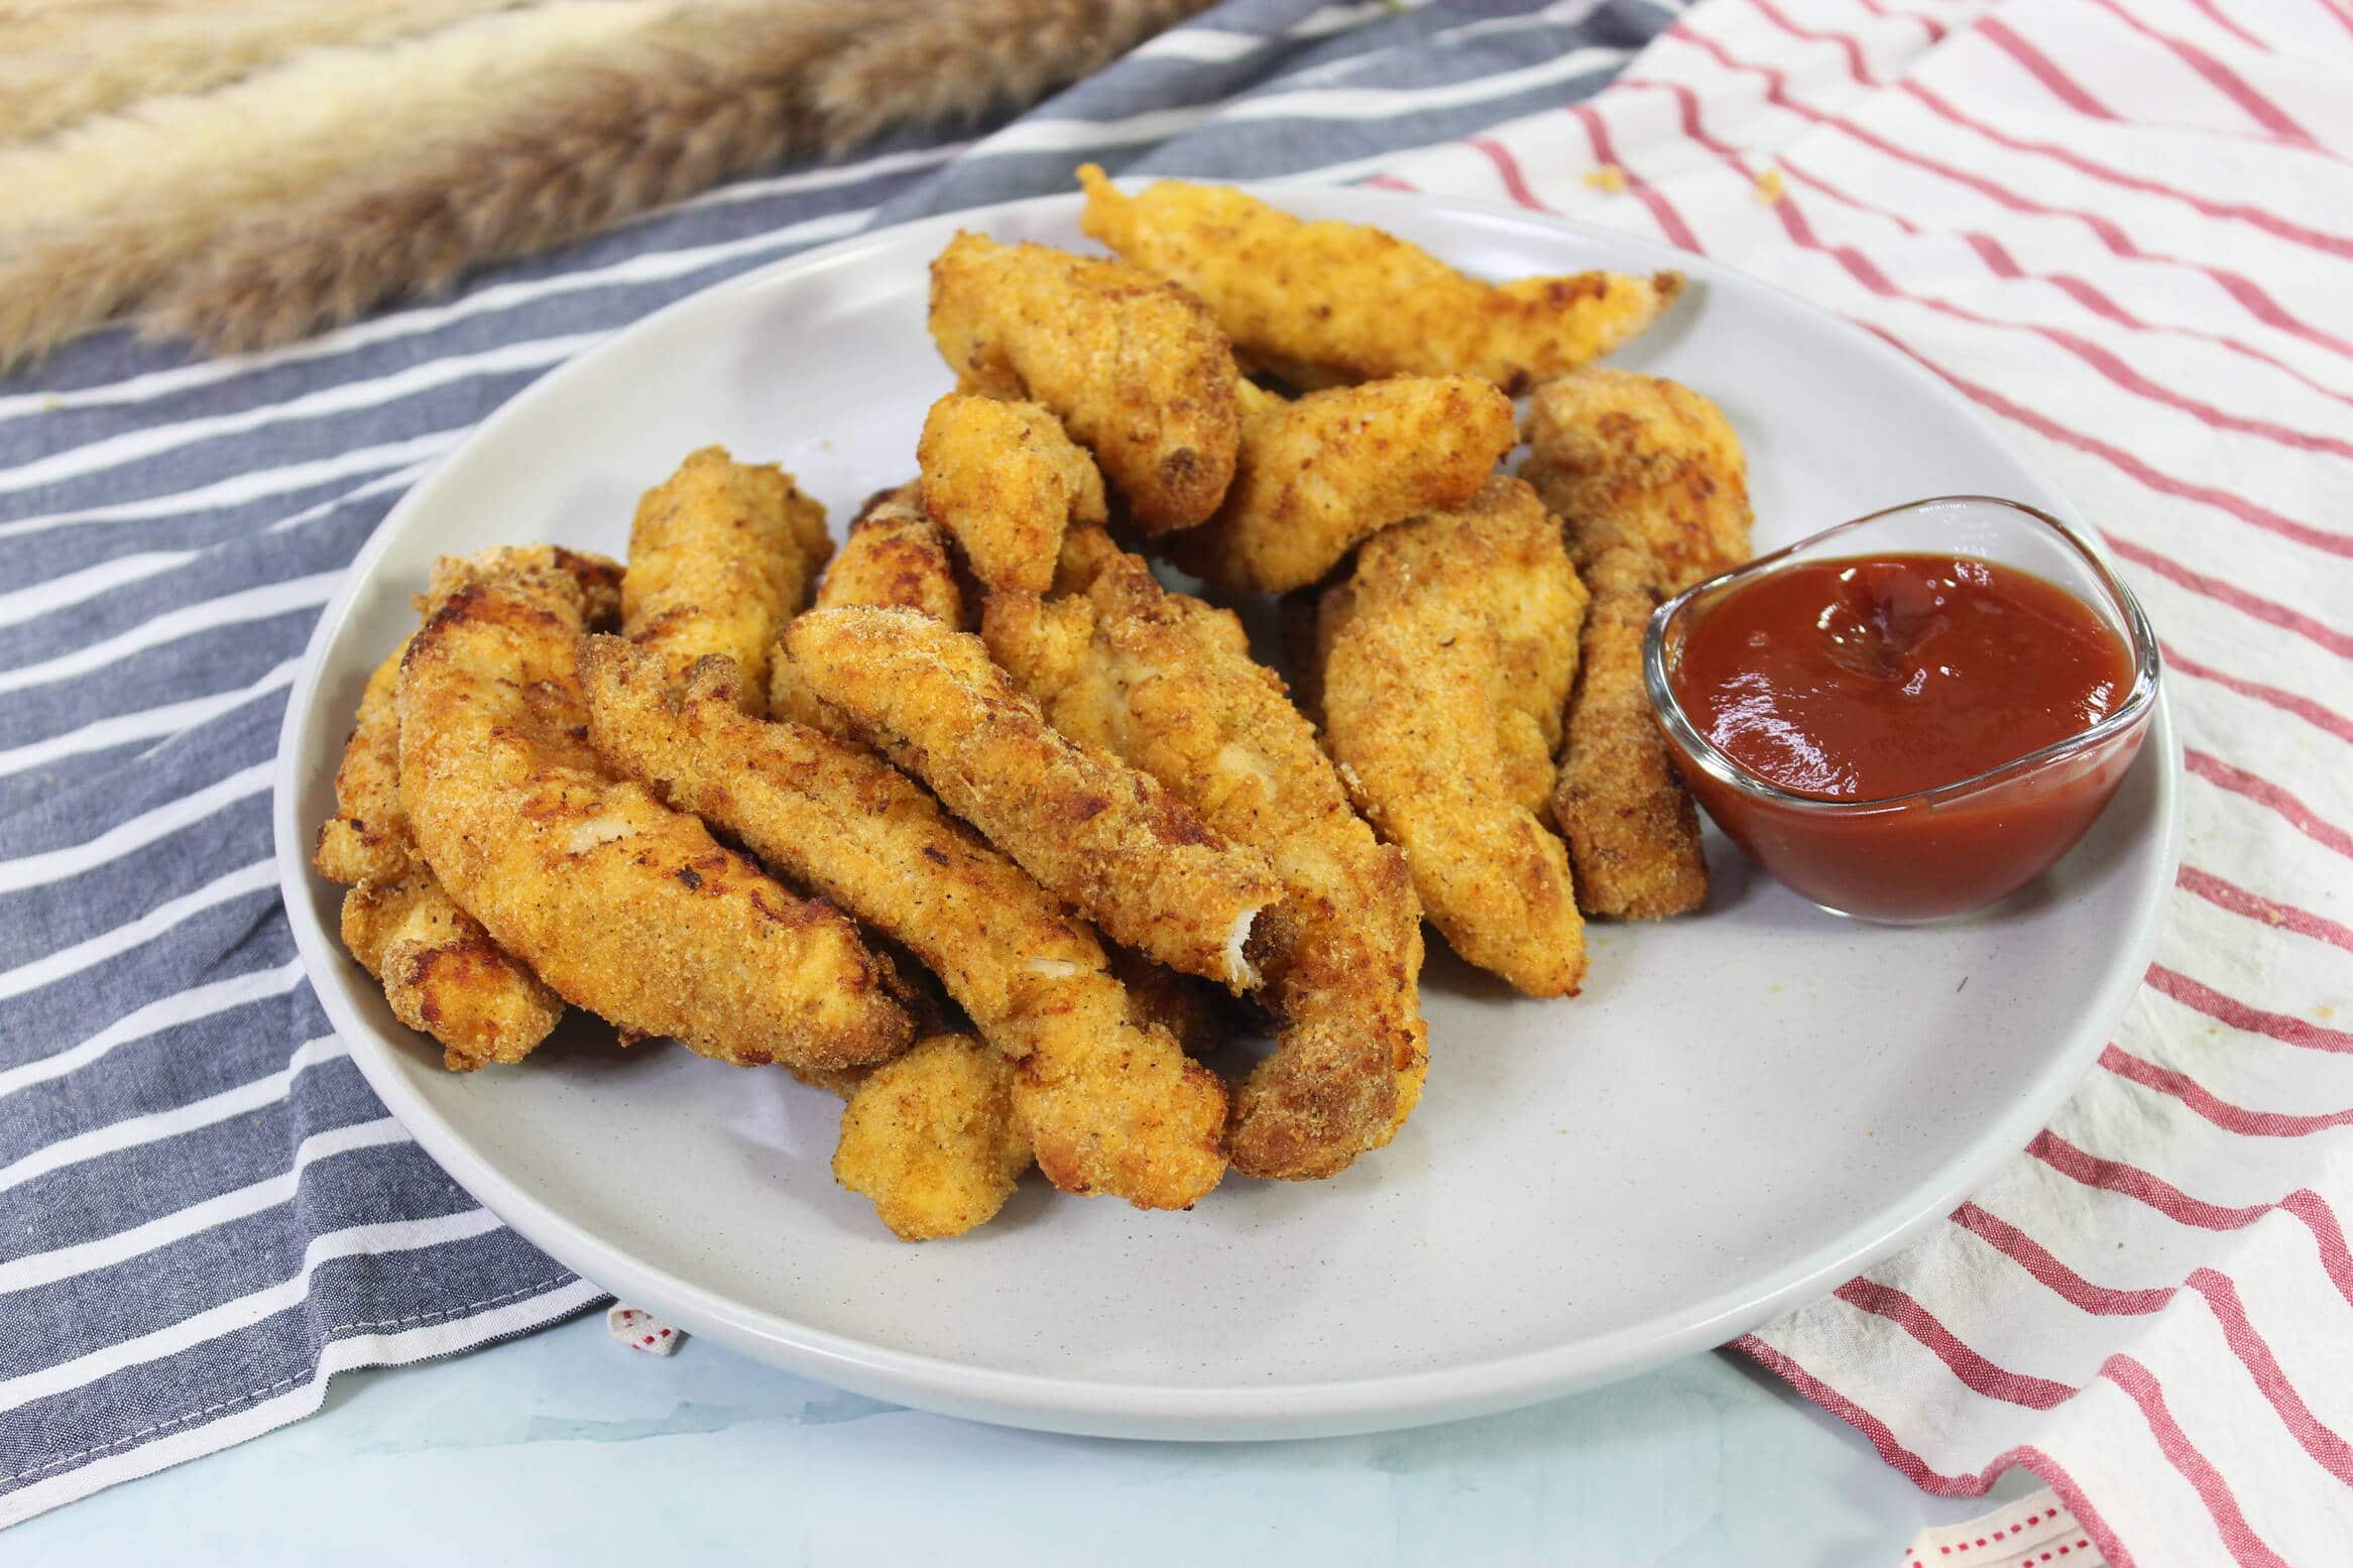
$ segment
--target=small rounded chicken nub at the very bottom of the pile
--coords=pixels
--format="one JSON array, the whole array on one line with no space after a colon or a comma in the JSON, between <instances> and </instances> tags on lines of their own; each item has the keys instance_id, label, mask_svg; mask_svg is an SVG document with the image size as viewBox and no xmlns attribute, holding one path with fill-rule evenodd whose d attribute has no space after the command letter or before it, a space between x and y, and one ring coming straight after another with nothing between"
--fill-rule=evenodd
<instances>
[{"instance_id":1,"label":"small rounded chicken nub at the very bottom of the pile","mask_svg":"<svg viewBox=\"0 0 2353 1568\"><path fill-rule=\"evenodd\" d=\"M901 1241L984 1225L1031 1164L1014 1067L969 1034L932 1034L849 1093L833 1180L873 1199Z\"/></svg>"}]
</instances>

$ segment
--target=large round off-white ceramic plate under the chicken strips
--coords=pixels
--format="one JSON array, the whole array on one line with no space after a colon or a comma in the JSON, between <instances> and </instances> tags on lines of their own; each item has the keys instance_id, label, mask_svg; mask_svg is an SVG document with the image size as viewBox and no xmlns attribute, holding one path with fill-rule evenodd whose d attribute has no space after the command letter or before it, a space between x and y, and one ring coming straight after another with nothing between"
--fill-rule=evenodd
<instances>
[{"instance_id":1,"label":"large round off-white ceramic plate under the chicken strips","mask_svg":"<svg viewBox=\"0 0 2353 1568\"><path fill-rule=\"evenodd\" d=\"M2066 515L1977 414L1868 334L1624 235L1374 190L1285 188L1482 275L1694 275L1621 364L1715 397L1758 548L1941 491ZM901 1403L1113 1436L1304 1436L1478 1415L1718 1345L1951 1211L2021 1150L2122 1013L2174 875L2177 743L2089 839L1969 924L1814 912L1720 839L1697 919L1595 929L1574 1001L1431 938L1431 1088L1329 1182L1233 1178L1191 1213L1038 1178L960 1241L904 1246L828 1173L840 1105L784 1072L621 1053L574 1016L529 1063L445 1074L334 940L306 865L367 670L440 552L624 552L635 496L725 442L845 520L913 470L948 374L925 263L962 223L1085 247L1078 200L934 219L682 301L515 397L384 522L287 710L278 858L311 978L386 1105L572 1269L753 1356Z\"/></svg>"}]
</instances>

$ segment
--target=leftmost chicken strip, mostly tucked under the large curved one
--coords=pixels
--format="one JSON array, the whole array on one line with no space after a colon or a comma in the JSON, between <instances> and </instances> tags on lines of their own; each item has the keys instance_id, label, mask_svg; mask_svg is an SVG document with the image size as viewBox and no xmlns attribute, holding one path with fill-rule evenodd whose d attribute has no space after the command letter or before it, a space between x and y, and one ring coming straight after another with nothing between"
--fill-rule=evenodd
<instances>
[{"instance_id":1,"label":"leftmost chicken strip, mostly tucked under the large curved one","mask_svg":"<svg viewBox=\"0 0 2353 1568\"><path fill-rule=\"evenodd\" d=\"M341 882L341 936L384 983L393 1016L442 1044L449 1072L520 1063L562 1018L562 999L442 891L400 809L400 656L376 665L334 771L336 813L313 865Z\"/></svg>"}]
</instances>

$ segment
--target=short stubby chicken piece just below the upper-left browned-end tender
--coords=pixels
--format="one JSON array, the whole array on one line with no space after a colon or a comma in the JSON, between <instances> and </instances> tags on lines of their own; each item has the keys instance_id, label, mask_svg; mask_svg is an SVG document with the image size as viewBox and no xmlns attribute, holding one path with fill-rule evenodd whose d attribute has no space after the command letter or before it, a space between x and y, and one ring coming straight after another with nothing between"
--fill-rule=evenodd
<instances>
[{"instance_id":1,"label":"short stubby chicken piece just below the upper-left browned-end tender","mask_svg":"<svg viewBox=\"0 0 2353 1568\"><path fill-rule=\"evenodd\" d=\"M915 444L922 503L986 588L1045 592L1061 534L1104 522L1104 475L1035 402L948 393Z\"/></svg>"}]
</instances>

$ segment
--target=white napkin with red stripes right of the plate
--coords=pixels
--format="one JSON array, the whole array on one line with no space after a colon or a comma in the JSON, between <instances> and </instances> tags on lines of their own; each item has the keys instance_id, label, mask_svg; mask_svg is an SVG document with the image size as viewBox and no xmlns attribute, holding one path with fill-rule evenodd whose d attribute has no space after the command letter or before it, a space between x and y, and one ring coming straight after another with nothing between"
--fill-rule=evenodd
<instances>
[{"instance_id":1,"label":"white napkin with red stripes right of the plate","mask_svg":"<svg viewBox=\"0 0 2353 1568\"><path fill-rule=\"evenodd\" d=\"M2148 604L2191 780L2146 987L1948 1225L1741 1340L1929 1490L2026 1465L2118 1568L2353 1563L2348 150L2344 0L1706 0L1374 176L1864 322Z\"/></svg>"}]
</instances>

